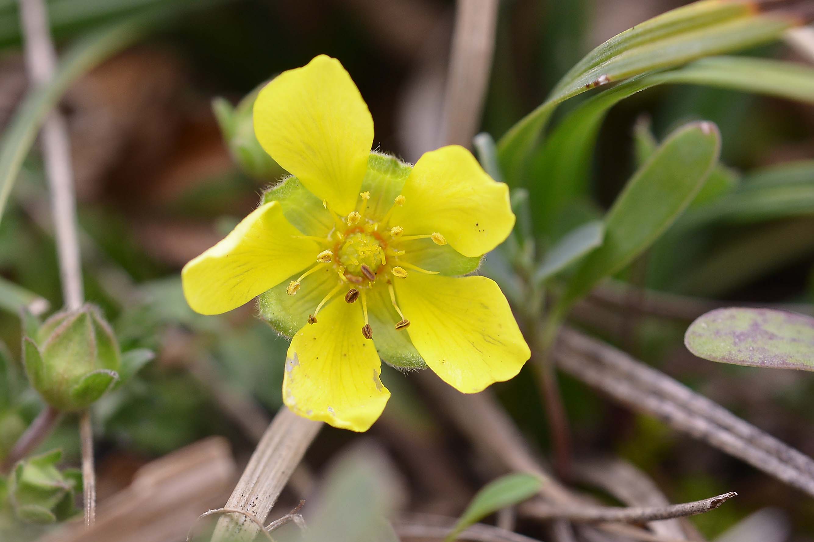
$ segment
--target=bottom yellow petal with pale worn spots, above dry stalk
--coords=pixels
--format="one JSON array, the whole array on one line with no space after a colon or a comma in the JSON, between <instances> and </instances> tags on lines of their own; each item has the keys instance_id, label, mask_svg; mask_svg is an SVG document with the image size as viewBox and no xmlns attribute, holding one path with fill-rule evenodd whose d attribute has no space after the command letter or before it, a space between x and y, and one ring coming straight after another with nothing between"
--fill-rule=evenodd
<instances>
[{"instance_id":1,"label":"bottom yellow petal with pale worn spots, above dry stalk","mask_svg":"<svg viewBox=\"0 0 814 542\"><path fill-rule=\"evenodd\" d=\"M379 380L382 364L365 339L359 303L335 299L316 324L304 326L288 347L282 400L300 416L352 431L367 431L390 391Z\"/></svg>"}]
</instances>

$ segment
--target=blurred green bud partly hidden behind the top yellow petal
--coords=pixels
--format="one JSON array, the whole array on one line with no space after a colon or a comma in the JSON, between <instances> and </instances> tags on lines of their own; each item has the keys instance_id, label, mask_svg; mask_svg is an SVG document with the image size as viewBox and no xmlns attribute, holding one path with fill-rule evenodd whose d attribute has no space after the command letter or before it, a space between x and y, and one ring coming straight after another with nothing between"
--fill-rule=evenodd
<instances>
[{"instance_id":1,"label":"blurred green bud partly hidden behind the top yellow petal","mask_svg":"<svg viewBox=\"0 0 814 542\"><path fill-rule=\"evenodd\" d=\"M285 171L263 150L254 133L252 108L255 98L263 85L260 85L243 98L238 107L233 107L224 98L212 100L218 125L226 146L229 147L232 160L243 169L249 177L260 181L274 182L285 175Z\"/></svg>"}]
</instances>

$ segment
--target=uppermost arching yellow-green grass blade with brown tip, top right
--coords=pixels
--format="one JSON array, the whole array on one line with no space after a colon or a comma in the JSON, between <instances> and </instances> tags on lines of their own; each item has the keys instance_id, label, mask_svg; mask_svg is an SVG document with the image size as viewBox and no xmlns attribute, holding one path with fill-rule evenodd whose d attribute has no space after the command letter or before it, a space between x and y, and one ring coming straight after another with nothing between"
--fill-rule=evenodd
<instances>
[{"instance_id":1,"label":"uppermost arching yellow-green grass blade with brown tip, top right","mask_svg":"<svg viewBox=\"0 0 814 542\"><path fill-rule=\"evenodd\" d=\"M498 142L507 182L515 185L521 181L527 156L554 108L564 100L644 72L771 42L794 24L790 17L760 14L746 3L696 2L611 38L589 53L563 77L544 103L519 120Z\"/></svg>"}]
</instances>

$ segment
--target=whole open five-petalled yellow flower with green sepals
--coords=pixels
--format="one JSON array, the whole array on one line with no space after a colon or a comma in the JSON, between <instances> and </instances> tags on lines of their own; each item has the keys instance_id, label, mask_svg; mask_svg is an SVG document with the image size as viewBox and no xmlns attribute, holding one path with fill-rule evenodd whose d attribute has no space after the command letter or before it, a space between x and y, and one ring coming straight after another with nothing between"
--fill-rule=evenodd
<instances>
[{"instance_id":1,"label":"whole open five-petalled yellow flower with green sepals","mask_svg":"<svg viewBox=\"0 0 814 542\"><path fill-rule=\"evenodd\" d=\"M500 288L461 276L514 227L505 184L461 146L414 166L371 152L370 111L324 55L266 85L254 122L295 177L186 264L183 287L202 314L260 296L261 317L293 337L291 410L366 431L390 397L381 359L429 366L464 393L519 372L530 354Z\"/></svg>"}]
</instances>

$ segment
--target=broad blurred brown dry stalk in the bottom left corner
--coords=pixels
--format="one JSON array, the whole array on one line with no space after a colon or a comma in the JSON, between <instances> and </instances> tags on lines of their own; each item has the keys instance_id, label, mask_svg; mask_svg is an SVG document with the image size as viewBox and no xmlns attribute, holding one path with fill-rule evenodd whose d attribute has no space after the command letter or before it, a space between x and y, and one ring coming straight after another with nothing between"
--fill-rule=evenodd
<instances>
[{"instance_id":1,"label":"broad blurred brown dry stalk in the bottom left corner","mask_svg":"<svg viewBox=\"0 0 814 542\"><path fill-rule=\"evenodd\" d=\"M201 512L223 502L234 474L228 442L201 440L138 470L129 487L103 500L90 530L69 523L37 542L183 540Z\"/></svg>"}]
</instances>

